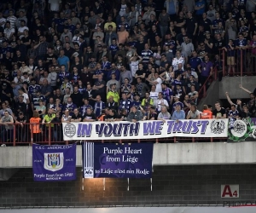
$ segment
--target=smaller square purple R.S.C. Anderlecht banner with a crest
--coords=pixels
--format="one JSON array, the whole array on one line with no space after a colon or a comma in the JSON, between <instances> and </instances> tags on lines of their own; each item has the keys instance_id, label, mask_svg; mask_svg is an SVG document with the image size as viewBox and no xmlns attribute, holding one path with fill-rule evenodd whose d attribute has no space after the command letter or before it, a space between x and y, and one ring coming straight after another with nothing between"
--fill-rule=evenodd
<instances>
[{"instance_id":1,"label":"smaller square purple R.S.C. Anderlecht banner with a crest","mask_svg":"<svg viewBox=\"0 0 256 213\"><path fill-rule=\"evenodd\" d=\"M32 146L34 181L73 181L76 179L76 144Z\"/></svg>"}]
</instances>

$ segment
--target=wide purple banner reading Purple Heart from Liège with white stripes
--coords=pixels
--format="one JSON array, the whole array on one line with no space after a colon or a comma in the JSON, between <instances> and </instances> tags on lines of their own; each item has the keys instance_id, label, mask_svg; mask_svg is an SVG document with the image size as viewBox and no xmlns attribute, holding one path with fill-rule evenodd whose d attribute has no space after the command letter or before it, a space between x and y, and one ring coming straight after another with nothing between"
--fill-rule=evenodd
<instances>
[{"instance_id":1,"label":"wide purple banner reading Purple Heart from Li\u00e8ge with white stripes","mask_svg":"<svg viewBox=\"0 0 256 213\"><path fill-rule=\"evenodd\" d=\"M84 178L151 178L153 143L83 144Z\"/></svg>"}]
</instances>

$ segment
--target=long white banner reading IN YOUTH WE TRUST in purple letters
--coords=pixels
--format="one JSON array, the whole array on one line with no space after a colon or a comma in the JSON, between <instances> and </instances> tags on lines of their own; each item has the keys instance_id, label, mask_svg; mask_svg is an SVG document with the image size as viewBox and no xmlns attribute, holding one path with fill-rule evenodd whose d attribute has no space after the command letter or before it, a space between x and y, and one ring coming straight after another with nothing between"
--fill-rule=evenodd
<instances>
[{"instance_id":1,"label":"long white banner reading IN YOUTH WE TRUST in purple letters","mask_svg":"<svg viewBox=\"0 0 256 213\"><path fill-rule=\"evenodd\" d=\"M64 141L227 137L228 119L63 123Z\"/></svg>"}]
</instances>

